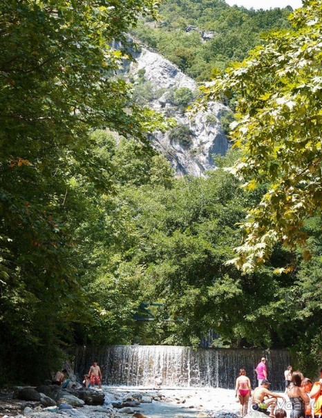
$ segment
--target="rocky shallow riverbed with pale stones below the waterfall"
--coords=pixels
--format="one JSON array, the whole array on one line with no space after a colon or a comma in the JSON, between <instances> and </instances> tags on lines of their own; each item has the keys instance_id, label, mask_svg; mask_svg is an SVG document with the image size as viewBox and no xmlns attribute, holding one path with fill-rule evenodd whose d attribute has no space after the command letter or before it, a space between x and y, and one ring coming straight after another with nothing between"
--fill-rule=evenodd
<instances>
[{"instance_id":1,"label":"rocky shallow riverbed with pale stones below the waterfall","mask_svg":"<svg viewBox=\"0 0 322 418\"><path fill-rule=\"evenodd\" d=\"M237 410L234 392L225 389L100 391L39 386L0 394L3 418L236 418Z\"/></svg>"}]
</instances>

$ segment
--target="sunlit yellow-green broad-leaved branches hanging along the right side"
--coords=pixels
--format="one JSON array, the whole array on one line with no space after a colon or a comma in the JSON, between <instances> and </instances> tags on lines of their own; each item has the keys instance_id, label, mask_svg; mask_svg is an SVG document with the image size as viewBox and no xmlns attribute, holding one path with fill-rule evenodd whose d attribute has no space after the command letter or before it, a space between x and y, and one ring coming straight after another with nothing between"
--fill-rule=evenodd
<instances>
[{"instance_id":1,"label":"sunlit yellow-green broad-leaved branches hanging along the right side","mask_svg":"<svg viewBox=\"0 0 322 418\"><path fill-rule=\"evenodd\" d=\"M262 265L278 241L305 247L304 220L321 209L321 3L305 1L290 19L294 30L267 35L203 88L206 99L238 95L231 137L242 156L231 172L247 190L265 185L236 248L234 263L244 271Z\"/></svg>"}]
</instances>

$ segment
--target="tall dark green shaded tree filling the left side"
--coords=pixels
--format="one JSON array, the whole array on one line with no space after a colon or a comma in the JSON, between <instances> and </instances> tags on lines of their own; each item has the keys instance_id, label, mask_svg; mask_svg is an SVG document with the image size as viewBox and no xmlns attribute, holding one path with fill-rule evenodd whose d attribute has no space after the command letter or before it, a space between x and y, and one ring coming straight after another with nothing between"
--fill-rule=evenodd
<instances>
[{"instance_id":1,"label":"tall dark green shaded tree filling the left side","mask_svg":"<svg viewBox=\"0 0 322 418\"><path fill-rule=\"evenodd\" d=\"M0 367L14 364L12 379L36 381L35 370L43 379L72 339L70 324L86 320L75 229L93 216L93 195L113 188L111 161L90 131L145 144L159 126L114 76L128 57L124 32L156 5L1 2ZM87 183L82 199L77 187Z\"/></svg>"}]
</instances>

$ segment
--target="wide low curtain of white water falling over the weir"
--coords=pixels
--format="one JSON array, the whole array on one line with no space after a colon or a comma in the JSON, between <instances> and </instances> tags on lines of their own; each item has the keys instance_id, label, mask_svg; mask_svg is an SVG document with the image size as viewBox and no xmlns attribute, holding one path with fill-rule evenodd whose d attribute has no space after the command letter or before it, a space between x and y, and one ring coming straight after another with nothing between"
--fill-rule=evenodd
<instances>
[{"instance_id":1,"label":"wide low curtain of white water falling over the weir","mask_svg":"<svg viewBox=\"0 0 322 418\"><path fill-rule=\"evenodd\" d=\"M93 361L102 369L103 383L109 386L140 386L152 388L155 377L162 379L162 388L235 387L241 367L256 386L254 368L267 359L268 379L272 390L284 389L284 370L290 363L287 350L247 350L199 348L171 345L111 345L79 347L75 356L75 374L79 381Z\"/></svg>"}]
</instances>

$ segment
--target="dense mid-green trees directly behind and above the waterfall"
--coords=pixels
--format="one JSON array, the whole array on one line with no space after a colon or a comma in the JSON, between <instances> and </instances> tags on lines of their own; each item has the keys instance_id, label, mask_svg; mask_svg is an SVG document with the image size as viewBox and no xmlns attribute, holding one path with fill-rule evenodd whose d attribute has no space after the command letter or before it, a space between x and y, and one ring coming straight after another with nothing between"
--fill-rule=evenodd
<instances>
[{"instance_id":1,"label":"dense mid-green trees directly behind and above the waterfall","mask_svg":"<svg viewBox=\"0 0 322 418\"><path fill-rule=\"evenodd\" d=\"M97 135L106 141L104 132ZM97 277L88 292L100 307L95 324L79 326L81 341L198 346L213 329L220 334L215 346L292 348L294 362L314 376L321 355L319 220L307 225L314 263L276 247L265 268L242 275L227 261L241 239L238 222L261 194L243 191L224 169L206 178L173 178L162 157L146 157L135 148L121 142L115 149L113 160L130 149L132 159L126 171L117 164L115 175L123 182L105 200L102 243L97 236L90 241L86 283ZM227 167L234 160L229 153L217 164ZM140 184L131 169L138 164L147 173ZM296 272L274 274L291 262ZM153 323L133 321L142 302L163 303Z\"/></svg>"}]
</instances>

